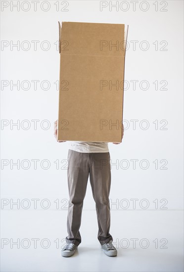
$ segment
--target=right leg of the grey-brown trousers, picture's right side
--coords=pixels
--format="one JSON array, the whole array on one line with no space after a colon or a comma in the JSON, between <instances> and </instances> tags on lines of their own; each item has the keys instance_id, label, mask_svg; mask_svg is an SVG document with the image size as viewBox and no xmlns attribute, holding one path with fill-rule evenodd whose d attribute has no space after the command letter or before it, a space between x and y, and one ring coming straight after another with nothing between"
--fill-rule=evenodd
<instances>
[{"instance_id":1,"label":"right leg of the grey-brown trousers, picture's right side","mask_svg":"<svg viewBox=\"0 0 184 272\"><path fill-rule=\"evenodd\" d=\"M90 183L92 195L96 203L98 221L97 238L100 244L113 241L110 230L109 193L111 185L110 153L90 154Z\"/></svg>"}]
</instances>

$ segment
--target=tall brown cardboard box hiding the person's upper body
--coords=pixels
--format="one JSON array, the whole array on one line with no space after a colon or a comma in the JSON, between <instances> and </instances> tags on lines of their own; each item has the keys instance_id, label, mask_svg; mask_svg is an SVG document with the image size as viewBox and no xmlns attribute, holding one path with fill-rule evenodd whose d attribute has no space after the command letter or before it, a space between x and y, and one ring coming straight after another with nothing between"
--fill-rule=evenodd
<instances>
[{"instance_id":1,"label":"tall brown cardboard box hiding the person's upper body","mask_svg":"<svg viewBox=\"0 0 184 272\"><path fill-rule=\"evenodd\" d=\"M57 140L122 141L127 35L124 24L59 23Z\"/></svg>"}]
</instances>

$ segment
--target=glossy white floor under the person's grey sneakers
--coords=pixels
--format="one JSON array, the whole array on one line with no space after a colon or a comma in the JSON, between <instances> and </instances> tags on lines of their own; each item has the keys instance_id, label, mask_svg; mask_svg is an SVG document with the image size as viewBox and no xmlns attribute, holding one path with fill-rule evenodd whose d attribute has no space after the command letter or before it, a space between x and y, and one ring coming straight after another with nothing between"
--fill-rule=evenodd
<instances>
[{"instance_id":1,"label":"glossy white floor under the person's grey sneakers","mask_svg":"<svg viewBox=\"0 0 184 272\"><path fill-rule=\"evenodd\" d=\"M60 248L67 236L67 210L1 211L1 272L183 272L183 215L111 210L110 234L118 255L108 257L97 240L95 210L83 210L82 243L66 258ZM17 239L19 248L11 243Z\"/></svg>"}]
</instances>

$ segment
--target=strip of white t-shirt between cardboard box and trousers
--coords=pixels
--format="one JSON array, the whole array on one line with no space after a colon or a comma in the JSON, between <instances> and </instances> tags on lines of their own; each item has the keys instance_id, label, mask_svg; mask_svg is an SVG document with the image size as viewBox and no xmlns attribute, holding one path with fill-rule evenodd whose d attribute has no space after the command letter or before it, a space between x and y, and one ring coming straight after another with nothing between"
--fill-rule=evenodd
<instances>
[{"instance_id":1,"label":"strip of white t-shirt between cardboard box and trousers","mask_svg":"<svg viewBox=\"0 0 184 272\"><path fill-rule=\"evenodd\" d=\"M69 149L82 153L109 152L108 142L68 141Z\"/></svg>"}]
</instances>

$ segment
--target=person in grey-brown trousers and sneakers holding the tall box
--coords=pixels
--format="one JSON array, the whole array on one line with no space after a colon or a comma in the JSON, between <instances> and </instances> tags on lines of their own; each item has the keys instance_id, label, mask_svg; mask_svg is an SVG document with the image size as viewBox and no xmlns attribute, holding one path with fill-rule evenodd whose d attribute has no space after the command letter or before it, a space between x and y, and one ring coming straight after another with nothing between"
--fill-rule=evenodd
<instances>
[{"instance_id":1,"label":"person in grey-brown trousers and sneakers holding the tall box","mask_svg":"<svg viewBox=\"0 0 184 272\"><path fill-rule=\"evenodd\" d=\"M122 138L124 126L122 124ZM57 139L57 121L54 122L54 136ZM58 141L65 142L65 141ZM119 144L118 142L113 142ZM69 141L68 150L68 189L69 207L67 217L66 246L62 249L63 257L72 256L81 243L83 201L86 195L90 175L92 195L96 203L98 221L98 240L107 256L116 256L110 229L109 193L111 185L110 153L108 142Z\"/></svg>"}]
</instances>

